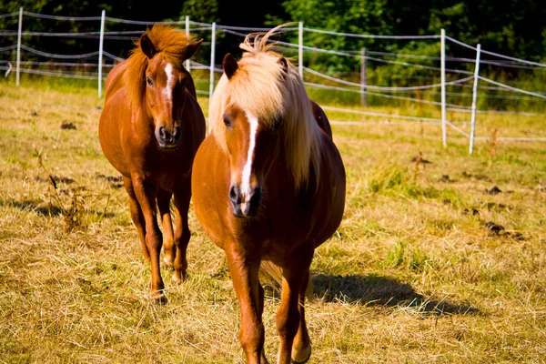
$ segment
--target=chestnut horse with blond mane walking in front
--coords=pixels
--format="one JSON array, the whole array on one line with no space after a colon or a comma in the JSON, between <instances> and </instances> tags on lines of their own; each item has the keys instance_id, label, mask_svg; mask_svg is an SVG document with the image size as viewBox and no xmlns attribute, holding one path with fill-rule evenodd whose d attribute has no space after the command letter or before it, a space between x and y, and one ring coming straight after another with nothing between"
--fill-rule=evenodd
<instances>
[{"instance_id":1,"label":"chestnut horse with blond mane walking in front","mask_svg":"<svg viewBox=\"0 0 546 364\"><path fill-rule=\"evenodd\" d=\"M225 56L211 100L211 131L192 175L197 219L227 256L249 363L267 362L262 263L282 276L278 363L309 359L309 266L345 207L345 168L328 118L308 98L296 67L267 45L276 29L248 35L239 61Z\"/></svg>"}]
</instances>

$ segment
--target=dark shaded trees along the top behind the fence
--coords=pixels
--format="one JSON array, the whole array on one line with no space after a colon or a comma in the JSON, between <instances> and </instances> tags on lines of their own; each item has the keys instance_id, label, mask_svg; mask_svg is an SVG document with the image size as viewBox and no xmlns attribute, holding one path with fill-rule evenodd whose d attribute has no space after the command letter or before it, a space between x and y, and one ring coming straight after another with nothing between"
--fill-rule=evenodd
<instances>
[{"instance_id":1,"label":"dark shaded trees along the top behind the fence","mask_svg":"<svg viewBox=\"0 0 546 364\"><path fill-rule=\"evenodd\" d=\"M546 59L546 6L539 0L475 0L471 2L449 0L286 0L270 1L257 5L255 1L227 0L19 0L0 3L0 14L25 11L63 16L98 16L101 11L111 17L147 21L191 20L221 25L264 27L286 22L304 22L305 26L341 33L372 35L439 35L446 34L469 45L481 44L483 49L503 55L515 56L541 62ZM16 30L17 17L0 19L2 29ZM26 18L25 31L35 32L92 32L98 30L97 22L58 21L52 19ZM144 27L125 24L108 24L107 31L136 30ZM209 35L204 33L203 37ZM238 41L217 43L217 59L226 52L237 55ZM224 35L227 36L227 35ZM297 34L290 35L297 41ZM135 35L137 38L137 35ZM207 39L206 39L207 40ZM16 38L0 36L0 47L13 45ZM25 37L25 45L50 53L77 54L97 49L96 37L60 38ZM366 47L398 54L438 56L439 41L411 40L385 41L378 39L355 39L342 36L307 34L306 45L333 50L353 50ZM132 41L112 43L116 56L126 56L134 44ZM473 57L471 50L448 45L448 54ZM198 56L198 55L197 55ZM205 55L202 55L205 57ZM356 72L359 59L341 56L306 54L306 62L329 72ZM434 64L430 61L430 64ZM467 65L468 66L468 65ZM471 66L471 65L470 65ZM468 66L470 68L470 66ZM515 71L514 71L515 72Z\"/></svg>"}]
</instances>

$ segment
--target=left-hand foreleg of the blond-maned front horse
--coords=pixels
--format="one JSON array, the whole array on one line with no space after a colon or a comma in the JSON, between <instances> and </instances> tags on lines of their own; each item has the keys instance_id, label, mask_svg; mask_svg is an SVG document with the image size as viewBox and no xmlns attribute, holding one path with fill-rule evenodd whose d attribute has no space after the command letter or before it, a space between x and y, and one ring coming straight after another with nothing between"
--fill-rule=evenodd
<instances>
[{"instance_id":1,"label":"left-hand foreleg of the blond-maned front horse","mask_svg":"<svg viewBox=\"0 0 546 364\"><path fill-rule=\"evenodd\" d=\"M239 342L245 351L248 364L267 363L263 353L265 331L260 315L263 290L258 288L259 259L251 258L248 253L241 252L240 248L234 249L229 245L226 246L226 256L227 267L241 309ZM262 298L259 298L260 294Z\"/></svg>"}]
</instances>

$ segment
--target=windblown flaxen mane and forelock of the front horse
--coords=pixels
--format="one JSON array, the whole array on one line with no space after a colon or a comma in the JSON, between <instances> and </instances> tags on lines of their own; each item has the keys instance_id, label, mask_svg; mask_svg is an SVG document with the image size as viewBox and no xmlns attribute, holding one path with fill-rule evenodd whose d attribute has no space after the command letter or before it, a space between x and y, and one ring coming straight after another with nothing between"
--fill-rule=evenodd
<instances>
[{"instance_id":1,"label":"windblown flaxen mane and forelock of the front horse","mask_svg":"<svg viewBox=\"0 0 546 364\"><path fill-rule=\"evenodd\" d=\"M218 145L226 150L222 120L227 106L237 105L266 126L272 126L281 116L287 163L300 187L307 183L311 165L319 175L320 129L298 69L287 60L285 73L285 66L279 62L282 56L271 50L275 44L268 44L278 28L266 34L247 35L239 45L245 52L238 61L238 70L229 80L226 75L220 78L211 100L209 121Z\"/></svg>"}]
</instances>

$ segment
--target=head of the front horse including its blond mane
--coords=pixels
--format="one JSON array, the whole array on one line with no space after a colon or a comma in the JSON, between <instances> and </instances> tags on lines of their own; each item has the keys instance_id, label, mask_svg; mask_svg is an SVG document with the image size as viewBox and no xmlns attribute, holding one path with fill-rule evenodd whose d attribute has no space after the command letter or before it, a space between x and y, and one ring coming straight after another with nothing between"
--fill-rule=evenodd
<instances>
[{"instance_id":1,"label":"head of the front horse including its blond mane","mask_svg":"<svg viewBox=\"0 0 546 364\"><path fill-rule=\"evenodd\" d=\"M224 57L224 75L210 101L211 133L227 156L228 198L238 217L258 214L275 187L271 171L286 179L276 187L296 192L320 169L321 130L298 69L268 45L275 31L247 37L238 61Z\"/></svg>"}]
</instances>

